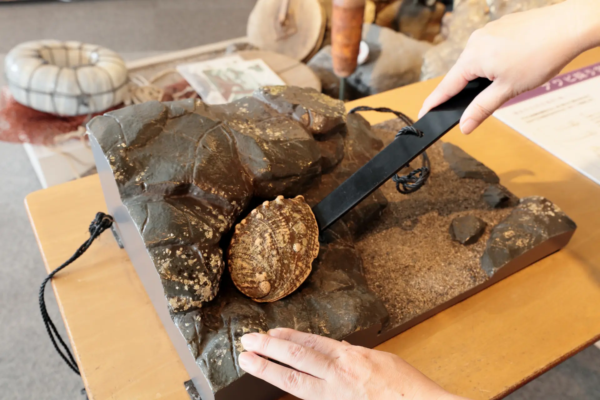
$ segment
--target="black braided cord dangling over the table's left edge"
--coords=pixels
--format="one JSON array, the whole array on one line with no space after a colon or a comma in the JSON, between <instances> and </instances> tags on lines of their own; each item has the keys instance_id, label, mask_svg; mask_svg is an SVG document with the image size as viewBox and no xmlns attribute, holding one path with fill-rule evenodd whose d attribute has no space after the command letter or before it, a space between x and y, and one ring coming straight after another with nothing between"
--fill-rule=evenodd
<instances>
[{"instance_id":1,"label":"black braided cord dangling over the table's left edge","mask_svg":"<svg viewBox=\"0 0 600 400\"><path fill-rule=\"evenodd\" d=\"M107 215L103 212L98 212L96 214L96 218L94 218L94 221L92 221L92 223L89 224L89 228L88 228L89 239L86 240L77 249L77 251L73 255L71 255L71 258L69 258L67 261L64 262L64 264L62 264L61 266L59 266L58 268L56 268L55 270L50 272L50 275L46 276L46 279L44 279L44 281L42 282L42 284L40 286L40 296L39 296L40 311L41 311L41 317L44 320L44 325L46 326L46 332L48 332L48 336L50 336L50 340L52 341L52 344L54 345L54 348L56 349L56 351L58 351L58 354L61 355L62 359L65 360L65 363L67 363L67 365L77 375L81 375L81 374L79 372L79 367L77 367L77 363L75 362L73 354L71 354L71 351L69 350L67 344L65 344L65 342L62 340L61 335L58 333L56 326L52 322L52 319L50 318L50 315L48 315L48 311L46 310L46 301L44 300L44 290L46 290L46 284L48 283L48 281L50 281L50 279L52 279L52 277L54 275L56 275L57 272L59 272L64 267L66 267L68 264L71 264L71 263L73 263L73 261L77 260L77 258L79 258L80 255L82 255L89 248L89 246L91 246L92 242L94 242L94 239L96 239L98 236L100 236L100 234L103 233L103 231L110 228L110 225L112 225L112 223L113 223L112 216ZM56 336L56 338L55 338L55 336ZM59 348L58 343L56 343L57 340L62 345L62 348L64 348L65 353L63 353L61 348Z\"/></svg>"}]
</instances>

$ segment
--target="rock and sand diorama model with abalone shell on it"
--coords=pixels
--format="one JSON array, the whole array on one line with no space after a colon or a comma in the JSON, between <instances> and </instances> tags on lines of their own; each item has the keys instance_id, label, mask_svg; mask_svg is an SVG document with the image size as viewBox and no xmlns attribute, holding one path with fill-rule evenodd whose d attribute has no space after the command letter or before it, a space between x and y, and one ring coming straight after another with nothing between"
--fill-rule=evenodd
<instances>
[{"instance_id":1,"label":"rock and sand diorama model with abalone shell on it","mask_svg":"<svg viewBox=\"0 0 600 400\"><path fill-rule=\"evenodd\" d=\"M566 245L575 224L550 200L517 199L441 142L419 191L388 182L319 234L310 207L404 126L371 127L341 101L284 86L89 122L109 212L188 392L275 398L239 368L245 333L292 327L373 347Z\"/></svg>"}]
</instances>

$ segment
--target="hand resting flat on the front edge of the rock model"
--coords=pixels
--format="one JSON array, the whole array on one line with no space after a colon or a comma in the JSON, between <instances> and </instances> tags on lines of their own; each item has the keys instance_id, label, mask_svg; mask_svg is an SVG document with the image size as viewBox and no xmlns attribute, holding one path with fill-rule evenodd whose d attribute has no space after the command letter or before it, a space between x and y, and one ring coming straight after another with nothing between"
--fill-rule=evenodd
<instances>
[{"instance_id":1,"label":"hand resting flat on the front edge of the rock model","mask_svg":"<svg viewBox=\"0 0 600 400\"><path fill-rule=\"evenodd\" d=\"M244 371L304 400L461 399L383 351L287 328L247 333L241 341Z\"/></svg>"}]
</instances>

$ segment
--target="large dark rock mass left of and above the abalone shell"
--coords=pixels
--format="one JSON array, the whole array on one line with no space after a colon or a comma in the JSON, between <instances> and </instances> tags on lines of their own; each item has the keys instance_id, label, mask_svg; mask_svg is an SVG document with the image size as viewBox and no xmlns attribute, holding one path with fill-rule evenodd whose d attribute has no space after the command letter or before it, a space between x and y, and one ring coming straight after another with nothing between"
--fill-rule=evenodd
<instances>
[{"instance_id":1,"label":"large dark rock mass left of and above the abalone shell","mask_svg":"<svg viewBox=\"0 0 600 400\"><path fill-rule=\"evenodd\" d=\"M335 164L322 158L312 134L343 130L340 101L299 88L255 95L214 107L191 99L143 103L88 125L173 312L215 296L224 269L220 240L253 196L296 196L320 176L322 160L329 169Z\"/></svg>"}]
</instances>

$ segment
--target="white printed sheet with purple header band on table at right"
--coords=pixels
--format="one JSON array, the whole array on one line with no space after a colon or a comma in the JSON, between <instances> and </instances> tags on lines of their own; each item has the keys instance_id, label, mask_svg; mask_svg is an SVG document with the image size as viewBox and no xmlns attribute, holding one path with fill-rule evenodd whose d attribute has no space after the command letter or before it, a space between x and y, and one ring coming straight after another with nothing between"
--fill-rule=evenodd
<instances>
[{"instance_id":1,"label":"white printed sheet with purple header band on table at right","mask_svg":"<svg viewBox=\"0 0 600 400\"><path fill-rule=\"evenodd\" d=\"M557 76L494 116L600 184L600 63Z\"/></svg>"}]
</instances>

